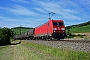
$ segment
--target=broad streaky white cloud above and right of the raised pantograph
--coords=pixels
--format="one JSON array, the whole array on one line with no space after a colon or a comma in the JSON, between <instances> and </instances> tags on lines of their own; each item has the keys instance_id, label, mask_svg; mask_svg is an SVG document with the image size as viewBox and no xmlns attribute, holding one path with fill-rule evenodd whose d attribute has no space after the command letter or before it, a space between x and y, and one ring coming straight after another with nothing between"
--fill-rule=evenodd
<instances>
[{"instance_id":1,"label":"broad streaky white cloud above and right of the raised pantograph","mask_svg":"<svg viewBox=\"0 0 90 60\"><path fill-rule=\"evenodd\" d=\"M55 12L56 14L59 14L59 15L63 16L64 18L68 18L68 19L81 20L80 17L74 15L74 14L79 14L79 12L77 10L70 9L70 8L66 9L66 6L64 5L64 3L54 2L54 1L43 2L40 0L38 0L38 1L33 0L33 1L40 4L40 6L42 6L42 8L48 12ZM66 2L66 1L63 1L63 2ZM73 2L69 2L69 3L71 3L71 5L76 6L76 4L74 4ZM64 5L64 6L62 6L62 5Z\"/></svg>"}]
</instances>

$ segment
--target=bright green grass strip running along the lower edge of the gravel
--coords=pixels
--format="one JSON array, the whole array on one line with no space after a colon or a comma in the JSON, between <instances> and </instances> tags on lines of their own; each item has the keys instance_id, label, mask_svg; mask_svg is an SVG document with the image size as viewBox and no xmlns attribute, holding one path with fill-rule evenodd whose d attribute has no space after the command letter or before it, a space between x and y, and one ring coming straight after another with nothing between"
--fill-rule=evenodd
<instances>
[{"instance_id":1,"label":"bright green grass strip running along the lower edge of the gravel","mask_svg":"<svg viewBox=\"0 0 90 60\"><path fill-rule=\"evenodd\" d=\"M41 50L45 53L60 58L61 60L90 60L90 52L85 53L81 51L58 49L58 48L53 48L35 43L28 43L28 42L23 42L23 45L27 47L35 48L37 50Z\"/></svg>"}]
</instances>

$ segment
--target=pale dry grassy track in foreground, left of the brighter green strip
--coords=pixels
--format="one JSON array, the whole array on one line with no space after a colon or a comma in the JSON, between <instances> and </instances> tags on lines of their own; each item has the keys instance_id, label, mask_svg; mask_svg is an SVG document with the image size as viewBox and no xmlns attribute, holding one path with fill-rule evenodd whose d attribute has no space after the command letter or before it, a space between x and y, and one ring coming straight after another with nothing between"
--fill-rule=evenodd
<instances>
[{"instance_id":1,"label":"pale dry grassy track in foreground, left of the brighter green strip","mask_svg":"<svg viewBox=\"0 0 90 60\"><path fill-rule=\"evenodd\" d=\"M22 44L10 45L0 60L60 60L48 53L25 47Z\"/></svg>"}]
</instances>

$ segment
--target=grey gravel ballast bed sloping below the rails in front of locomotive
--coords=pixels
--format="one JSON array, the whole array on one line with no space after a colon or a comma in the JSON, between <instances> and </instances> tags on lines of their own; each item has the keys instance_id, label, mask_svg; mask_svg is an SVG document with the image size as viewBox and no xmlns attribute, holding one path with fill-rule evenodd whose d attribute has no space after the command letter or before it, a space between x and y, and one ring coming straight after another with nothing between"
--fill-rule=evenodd
<instances>
[{"instance_id":1,"label":"grey gravel ballast bed sloping below the rails in front of locomotive","mask_svg":"<svg viewBox=\"0 0 90 60\"><path fill-rule=\"evenodd\" d=\"M90 40L25 40L55 48L70 49L74 51L90 52Z\"/></svg>"}]
</instances>

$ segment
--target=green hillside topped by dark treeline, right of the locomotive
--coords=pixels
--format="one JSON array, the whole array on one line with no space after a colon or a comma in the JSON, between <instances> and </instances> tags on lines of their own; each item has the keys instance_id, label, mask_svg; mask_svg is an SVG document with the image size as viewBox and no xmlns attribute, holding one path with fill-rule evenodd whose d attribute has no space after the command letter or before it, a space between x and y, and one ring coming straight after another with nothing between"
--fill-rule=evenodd
<instances>
[{"instance_id":1,"label":"green hillside topped by dark treeline, right of the locomotive","mask_svg":"<svg viewBox=\"0 0 90 60\"><path fill-rule=\"evenodd\" d=\"M90 21L77 25L67 26L66 29L70 30L71 33L90 32Z\"/></svg>"}]
</instances>

